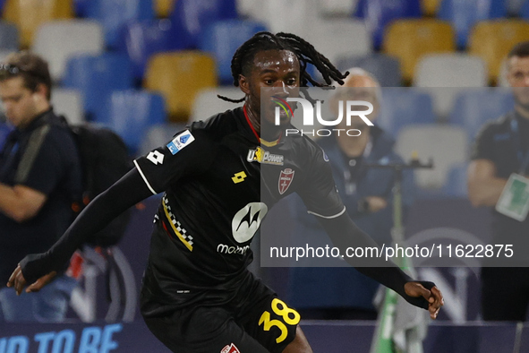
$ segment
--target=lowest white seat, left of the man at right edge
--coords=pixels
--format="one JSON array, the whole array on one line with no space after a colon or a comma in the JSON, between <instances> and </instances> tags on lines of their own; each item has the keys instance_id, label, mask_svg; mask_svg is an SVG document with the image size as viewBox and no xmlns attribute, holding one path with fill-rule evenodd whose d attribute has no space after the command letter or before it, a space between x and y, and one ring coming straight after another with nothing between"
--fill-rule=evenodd
<instances>
[{"instance_id":1,"label":"lowest white seat, left of the man at right edge","mask_svg":"<svg viewBox=\"0 0 529 353\"><path fill-rule=\"evenodd\" d=\"M454 125L411 125L397 136L396 151L404 159L409 159L414 151L422 162L433 159L433 169L415 171L415 183L431 191L446 185L448 171L466 161L467 149L465 131Z\"/></svg>"}]
</instances>

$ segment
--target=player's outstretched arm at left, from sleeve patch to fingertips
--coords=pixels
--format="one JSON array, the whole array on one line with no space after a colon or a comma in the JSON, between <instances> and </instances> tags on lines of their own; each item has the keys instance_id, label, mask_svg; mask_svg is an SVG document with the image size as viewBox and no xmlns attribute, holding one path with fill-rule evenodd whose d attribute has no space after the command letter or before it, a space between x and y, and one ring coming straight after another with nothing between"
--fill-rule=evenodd
<instances>
[{"instance_id":1,"label":"player's outstretched arm at left, from sleeve patch to fingertips","mask_svg":"<svg viewBox=\"0 0 529 353\"><path fill-rule=\"evenodd\" d=\"M176 134L166 146L134 160L135 168L90 202L46 253L24 257L7 287L21 293L27 283L32 283L26 291L38 291L54 277L54 272L64 269L79 246L111 220L150 195L165 191L180 178L201 174L214 158L215 149L209 139L200 132L192 134L186 130Z\"/></svg>"}]
</instances>

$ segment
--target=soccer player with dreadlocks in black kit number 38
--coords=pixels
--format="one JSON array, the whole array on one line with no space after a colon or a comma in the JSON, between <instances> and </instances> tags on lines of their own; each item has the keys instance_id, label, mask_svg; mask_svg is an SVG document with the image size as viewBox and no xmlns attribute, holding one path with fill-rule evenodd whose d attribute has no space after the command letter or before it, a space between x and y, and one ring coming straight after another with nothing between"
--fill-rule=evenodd
<instances>
[{"instance_id":1,"label":"soccer player with dreadlocks in black kit number 38","mask_svg":"<svg viewBox=\"0 0 529 353\"><path fill-rule=\"evenodd\" d=\"M261 87L276 88L285 98L308 82L319 84L306 73L307 62L328 84L346 77L292 34L260 32L246 41L232 61L243 108L193 123L136 159L135 168L91 202L47 253L26 256L9 286L19 293L29 283L26 291L43 287L91 234L165 191L141 290L141 314L158 340L180 353L311 352L300 315L246 269L260 221L274 203L297 192L335 245L376 244L347 216L320 147L281 134L290 116L281 115L280 126L260 116ZM278 183L280 176L286 183ZM432 318L439 313L443 299L433 283L413 281L396 266L358 270L428 309Z\"/></svg>"}]
</instances>

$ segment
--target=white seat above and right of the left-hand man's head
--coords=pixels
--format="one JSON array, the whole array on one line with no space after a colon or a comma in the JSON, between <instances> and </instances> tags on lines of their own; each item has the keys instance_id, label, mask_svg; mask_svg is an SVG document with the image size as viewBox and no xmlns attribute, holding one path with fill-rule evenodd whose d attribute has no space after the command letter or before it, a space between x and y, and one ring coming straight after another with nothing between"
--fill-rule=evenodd
<instances>
[{"instance_id":1,"label":"white seat above and right of the left-hand man's head","mask_svg":"<svg viewBox=\"0 0 529 353\"><path fill-rule=\"evenodd\" d=\"M70 56L103 52L103 30L85 20L47 22L38 28L31 49L47 60L52 78L60 81Z\"/></svg>"}]
</instances>

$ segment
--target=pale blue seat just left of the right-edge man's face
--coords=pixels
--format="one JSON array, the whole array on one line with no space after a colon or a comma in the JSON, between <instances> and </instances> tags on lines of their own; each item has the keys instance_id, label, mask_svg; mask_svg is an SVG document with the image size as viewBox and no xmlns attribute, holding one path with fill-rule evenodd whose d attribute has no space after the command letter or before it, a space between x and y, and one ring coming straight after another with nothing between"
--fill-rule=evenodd
<instances>
[{"instance_id":1,"label":"pale blue seat just left of the right-edge man's face","mask_svg":"<svg viewBox=\"0 0 529 353\"><path fill-rule=\"evenodd\" d=\"M513 108L514 98L508 89L467 90L457 96L449 122L464 127L473 141L488 120L503 116Z\"/></svg>"}]
</instances>

